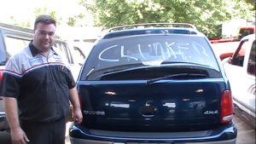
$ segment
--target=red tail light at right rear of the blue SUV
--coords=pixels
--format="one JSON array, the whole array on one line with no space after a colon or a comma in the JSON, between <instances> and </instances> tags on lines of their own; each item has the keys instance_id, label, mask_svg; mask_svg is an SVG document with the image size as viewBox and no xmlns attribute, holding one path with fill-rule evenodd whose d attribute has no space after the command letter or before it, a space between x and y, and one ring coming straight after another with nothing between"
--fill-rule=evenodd
<instances>
[{"instance_id":1,"label":"red tail light at right rear of the blue SUV","mask_svg":"<svg viewBox=\"0 0 256 144\"><path fill-rule=\"evenodd\" d=\"M221 97L221 123L229 123L233 118L233 98L230 90L225 90Z\"/></svg>"}]
</instances>

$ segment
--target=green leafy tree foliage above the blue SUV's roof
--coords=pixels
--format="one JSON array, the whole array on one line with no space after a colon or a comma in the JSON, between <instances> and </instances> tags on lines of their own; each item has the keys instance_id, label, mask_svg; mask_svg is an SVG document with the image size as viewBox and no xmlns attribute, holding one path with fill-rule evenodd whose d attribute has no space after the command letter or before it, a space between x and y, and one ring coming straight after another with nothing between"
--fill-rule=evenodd
<instances>
[{"instance_id":1,"label":"green leafy tree foliage above the blue SUV's roof","mask_svg":"<svg viewBox=\"0 0 256 144\"><path fill-rule=\"evenodd\" d=\"M252 20L253 5L239 0L81 0L96 26L109 28L149 22L194 24L208 37L219 35L222 21Z\"/></svg>"}]
</instances>

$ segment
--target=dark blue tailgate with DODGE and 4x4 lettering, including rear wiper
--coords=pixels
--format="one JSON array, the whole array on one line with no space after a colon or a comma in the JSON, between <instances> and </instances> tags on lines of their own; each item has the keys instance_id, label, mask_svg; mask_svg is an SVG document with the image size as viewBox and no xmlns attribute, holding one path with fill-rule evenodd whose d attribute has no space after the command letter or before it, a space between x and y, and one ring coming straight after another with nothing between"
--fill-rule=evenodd
<instances>
[{"instance_id":1,"label":"dark blue tailgate with DODGE and 4x4 lettering, including rear wiper","mask_svg":"<svg viewBox=\"0 0 256 144\"><path fill-rule=\"evenodd\" d=\"M208 67L186 65L125 69L103 74L99 80L80 80L83 124L127 131L216 128L226 89L220 76Z\"/></svg>"}]
</instances>

